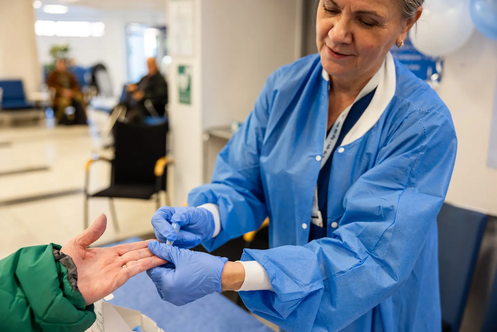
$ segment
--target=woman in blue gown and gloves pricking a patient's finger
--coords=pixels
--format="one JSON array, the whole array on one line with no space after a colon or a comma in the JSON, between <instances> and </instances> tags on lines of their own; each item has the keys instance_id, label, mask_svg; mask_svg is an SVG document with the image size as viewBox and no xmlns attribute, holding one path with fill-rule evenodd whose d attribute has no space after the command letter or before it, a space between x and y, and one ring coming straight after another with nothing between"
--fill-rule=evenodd
<instances>
[{"instance_id":1,"label":"woman in blue gown and gloves pricking a patient's finger","mask_svg":"<svg viewBox=\"0 0 497 332\"><path fill-rule=\"evenodd\" d=\"M319 55L273 73L212 183L153 217L175 241L149 243L170 262L148 271L164 300L231 289L287 331L441 330L436 217L456 133L437 94L389 53L422 4L319 1ZM213 250L266 216L270 249L241 262L185 249Z\"/></svg>"}]
</instances>

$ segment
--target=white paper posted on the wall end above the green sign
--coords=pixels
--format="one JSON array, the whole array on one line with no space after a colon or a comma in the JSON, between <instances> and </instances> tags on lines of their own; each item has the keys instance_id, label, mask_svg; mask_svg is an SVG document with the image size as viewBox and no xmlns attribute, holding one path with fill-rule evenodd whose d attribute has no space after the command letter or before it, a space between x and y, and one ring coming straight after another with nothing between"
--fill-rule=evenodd
<instances>
[{"instance_id":1,"label":"white paper posted on the wall end above the green sign","mask_svg":"<svg viewBox=\"0 0 497 332\"><path fill-rule=\"evenodd\" d=\"M194 4L192 0L171 0L169 3L169 51L172 56L193 56Z\"/></svg>"}]
</instances>

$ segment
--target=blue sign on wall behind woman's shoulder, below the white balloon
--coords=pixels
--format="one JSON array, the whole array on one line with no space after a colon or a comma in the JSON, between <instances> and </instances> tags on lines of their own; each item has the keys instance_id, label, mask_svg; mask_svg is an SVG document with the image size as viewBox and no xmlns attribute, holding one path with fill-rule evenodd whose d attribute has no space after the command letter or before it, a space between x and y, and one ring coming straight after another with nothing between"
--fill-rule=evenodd
<instances>
[{"instance_id":1,"label":"blue sign on wall behind woman's shoulder, below the white balloon","mask_svg":"<svg viewBox=\"0 0 497 332\"><path fill-rule=\"evenodd\" d=\"M438 83L442 77L443 61L440 58L433 58L421 54L414 48L413 43L408 38L404 41L404 47L394 45L390 52L394 58L404 64L414 75L421 80Z\"/></svg>"}]
</instances>

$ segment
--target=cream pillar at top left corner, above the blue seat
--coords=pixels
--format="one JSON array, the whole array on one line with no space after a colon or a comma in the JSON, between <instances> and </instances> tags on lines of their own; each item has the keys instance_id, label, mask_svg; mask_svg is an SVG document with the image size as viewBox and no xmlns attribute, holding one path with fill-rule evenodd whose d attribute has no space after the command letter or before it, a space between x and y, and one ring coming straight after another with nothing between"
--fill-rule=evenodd
<instances>
[{"instance_id":1,"label":"cream pillar at top left corner, above the blue seat","mask_svg":"<svg viewBox=\"0 0 497 332\"><path fill-rule=\"evenodd\" d=\"M22 79L27 93L40 90L32 0L0 0L0 79Z\"/></svg>"}]
</instances>

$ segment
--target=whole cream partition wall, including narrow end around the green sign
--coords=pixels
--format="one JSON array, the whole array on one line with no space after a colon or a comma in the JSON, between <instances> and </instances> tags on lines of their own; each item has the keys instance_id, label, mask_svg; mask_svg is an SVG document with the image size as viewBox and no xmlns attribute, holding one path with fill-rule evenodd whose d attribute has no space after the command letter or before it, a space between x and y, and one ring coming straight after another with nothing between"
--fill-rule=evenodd
<instances>
[{"instance_id":1,"label":"whole cream partition wall, including narrow end around the green sign","mask_svg":"<svg viewBox=\"0 0 497 332\"><path fill-rule=\"evenodd\" d=\"M188 192L203 183L203 129L243 121L267 76L300 53L300 0L194 3L195 54L172 54L170 67L175 205L182 204ZM193 67L191 106L178 104L178 64Z\"/></svg>"}]
</instances>

